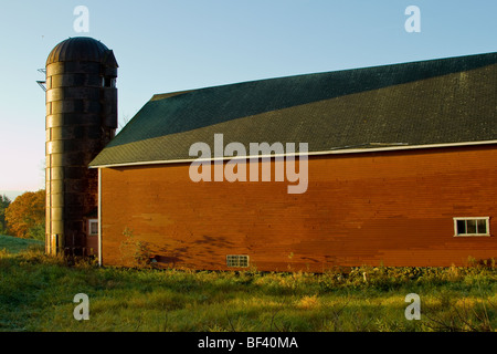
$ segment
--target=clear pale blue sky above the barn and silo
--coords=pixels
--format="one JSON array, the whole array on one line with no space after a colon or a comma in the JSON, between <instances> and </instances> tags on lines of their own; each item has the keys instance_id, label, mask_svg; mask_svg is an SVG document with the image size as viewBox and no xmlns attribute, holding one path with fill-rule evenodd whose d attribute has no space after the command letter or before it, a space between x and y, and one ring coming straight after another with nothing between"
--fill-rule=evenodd
<instances>
[{"instance_id":1,"label":"clear pale blue sky above the barn and silo","mask_svg":"<svg viewBox=\"0 0 497 354\"><path fill-rule=\"evenodd\" d=\"M77 6L88 9L88 32L74 29ZM409 6L420 9L421 32L404 28ZM78 35L114 50L123 126L156 93L496 52L497 1L3 1L0 192L44 188L36 70L59 42Z\"/></svg>"}]
</instances>

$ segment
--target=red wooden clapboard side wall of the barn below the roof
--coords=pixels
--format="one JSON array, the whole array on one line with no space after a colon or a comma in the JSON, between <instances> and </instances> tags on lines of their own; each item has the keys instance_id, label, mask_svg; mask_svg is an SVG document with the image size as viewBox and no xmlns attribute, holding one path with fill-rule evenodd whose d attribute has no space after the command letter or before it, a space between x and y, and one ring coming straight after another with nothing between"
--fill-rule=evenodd
<instances>
[{"instance_id":1,"label":"red wooden clapboard side wall of the barn below the roof","mask_svg":"<svg viewBox=\"0 0 497 354\"><path fill-rule=\"evenodd\" d=\"M258 270L451 266L497 258L497 148L309 157L308 189L193 183L189 164L103 169L103 262L123 264L123 231L161 267ZM453 217L490 217L491 237L454 237Z\"/></svg>"}]
</instances>

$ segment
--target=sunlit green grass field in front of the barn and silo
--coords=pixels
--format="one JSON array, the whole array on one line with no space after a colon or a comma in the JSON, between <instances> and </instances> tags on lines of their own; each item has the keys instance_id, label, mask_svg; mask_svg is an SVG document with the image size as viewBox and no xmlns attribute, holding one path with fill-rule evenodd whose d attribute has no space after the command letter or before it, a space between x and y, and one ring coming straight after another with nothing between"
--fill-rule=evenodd
<instances>
[{"instance_id":1,"label":"sunlit green grass field in front of the barn and silo","mask_svg":"<svg viewBox=\"0 0 497 354\"><path fill-rule=\"evenodd\" d=\"M0 331L497 329L495 267L363 267L326 274L136 270L67 267L25 247L0 238ZM74 319L77 293L88 295L87 321ZM421 320L405 317L410 293L420 295Z\"/></svg>"}]
</instances>

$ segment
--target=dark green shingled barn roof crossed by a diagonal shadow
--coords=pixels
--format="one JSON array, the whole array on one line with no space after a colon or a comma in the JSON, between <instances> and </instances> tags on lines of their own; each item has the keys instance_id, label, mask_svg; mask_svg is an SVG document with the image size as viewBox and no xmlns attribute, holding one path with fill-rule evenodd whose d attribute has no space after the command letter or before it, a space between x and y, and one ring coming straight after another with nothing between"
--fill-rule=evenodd
<instances>
[{"instance_id":1,"label":"dark green shingled barn roof crossed by a diagonal shadow","mask_svg":"<svg viewBox=\"0 0 497 354\"><path fill-rule=\"evenodd\" d=\"M496 140L497 53L158 94L91 166L193 159L214 134L309 153Z\"/></svg>"}]
</instances>

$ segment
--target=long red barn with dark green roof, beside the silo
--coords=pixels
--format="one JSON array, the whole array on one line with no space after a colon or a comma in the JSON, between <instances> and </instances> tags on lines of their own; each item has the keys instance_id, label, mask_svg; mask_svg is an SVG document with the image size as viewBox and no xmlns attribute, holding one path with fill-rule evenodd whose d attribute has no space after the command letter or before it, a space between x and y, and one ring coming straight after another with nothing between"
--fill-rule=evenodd
<instances>
[{"instance_id":1,"label":"long red barn with dark green roof, beside the silo","mask_svg":"<svg viewBox=\"0 0 497 354\"><path fill-rule=\"evenodd\" d=\"M101 262L125 229L159 267L497 258L496 143L497 53L158 94L91 163Z\"/></svg>"}]
</instances>

